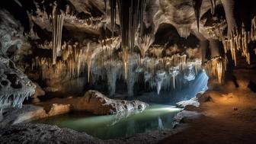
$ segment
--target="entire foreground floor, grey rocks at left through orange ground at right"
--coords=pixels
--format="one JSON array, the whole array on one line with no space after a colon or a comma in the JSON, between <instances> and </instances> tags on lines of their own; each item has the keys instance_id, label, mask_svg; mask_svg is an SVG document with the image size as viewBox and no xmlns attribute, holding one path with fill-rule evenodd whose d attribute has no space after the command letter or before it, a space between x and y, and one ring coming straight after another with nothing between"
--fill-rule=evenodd
<instances>
[{"instance_id":1,"label":"entire foreground floor, grey rocks at left through orange ground at right","mask_svg":"<svg viewBox=\"0 0 256 144\"><path fill-rule=\"evenodd\" d=\"M24 123L0 130L3 143L232 143L256 142L256 93L249 90L206 91L210 101L198 108L185 108L200 113L200 117L184 119L174 130L140 133L122 139L101 140L60 129L57 126ZM54 132L54 133L53 133ZM19 140L18 138L21 137ZM79 139L77 139L79 137ZM0 143L2 143L0 142Z\"/></svg>"}]
</instances>

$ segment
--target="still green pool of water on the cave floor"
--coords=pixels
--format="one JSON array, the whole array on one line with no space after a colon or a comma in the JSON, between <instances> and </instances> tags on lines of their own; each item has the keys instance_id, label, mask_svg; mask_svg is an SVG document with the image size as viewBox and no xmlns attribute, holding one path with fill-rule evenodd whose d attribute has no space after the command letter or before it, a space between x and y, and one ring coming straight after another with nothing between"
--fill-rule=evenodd
<instances>
[{"instance_id":1,"label":"still green pool of water on the cave floor","mask_svg":"<svg viewBox=\"0 0 256 144\"><path fill-rule=\"evenodd\" d=\"M171 129L174 125L174 116L180 110L167 105L152 105L143 111L136 110L109 116L85 113L65 114L37 120L36 123L66 127L88 133L99 139L117 139L133 136L136 133Z\"/></svg>"}]
</instances>

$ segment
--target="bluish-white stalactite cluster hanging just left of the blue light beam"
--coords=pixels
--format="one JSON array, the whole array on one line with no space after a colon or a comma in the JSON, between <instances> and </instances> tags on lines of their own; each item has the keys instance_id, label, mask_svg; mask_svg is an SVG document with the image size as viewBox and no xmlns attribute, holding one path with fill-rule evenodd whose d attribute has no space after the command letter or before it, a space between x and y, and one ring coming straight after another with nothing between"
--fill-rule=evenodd
<instances>
[{"instance_id":1,"label":"bluish-white stalactite cluster hanging just left of the blue light beam","mask_svg":"<svg viewBox=\"0 0 256 144\"><path fill-rule=\"evenodd\" d=\"M170 61L169 58L165 58L165 60ZM150 64L152 64L151 69L155 69L155 71L152 71L151 69L145 68L144 79L145 82L149 82L149 88L156 88L157 93L159 94L161 89L176 89L176 82L179 82L178 87L181 87L180 83L183 78L187 79L187 81L193 80L201 70L201 61L196 59L194 62L186 62L184 60L184 58L181 58L176 66L171 66L170 64L165 65L165 63L161 61L155 63L148 61L147 65L150 66ZM190 78L187 76L190 76Z\"/></svg>"}]
</instances>

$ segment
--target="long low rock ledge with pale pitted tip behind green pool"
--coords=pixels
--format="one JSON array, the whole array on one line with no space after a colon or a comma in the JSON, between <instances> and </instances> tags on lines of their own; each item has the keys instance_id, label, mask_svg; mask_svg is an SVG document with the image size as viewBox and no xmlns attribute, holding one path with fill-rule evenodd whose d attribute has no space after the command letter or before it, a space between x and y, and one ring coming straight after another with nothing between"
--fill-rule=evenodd
<instances>
[{"instance_id":1,"label":"long low rock ledge with pale pitted tip behind green pool","mask_svg":"<svg viewBox=\"0 0 256 144\"><path fill-rule=\"evenodd\" d=\"M81 98L54 98L46 103L37 103L37 106L24 104L22 108L5 108L0 126L27 123L59 114L69 114L72 111L86 111L97 115L122 115L126 111L144 110L148 105L141 101L114 100L98 91L88 91Z\"/></svg>"}]
</instances>

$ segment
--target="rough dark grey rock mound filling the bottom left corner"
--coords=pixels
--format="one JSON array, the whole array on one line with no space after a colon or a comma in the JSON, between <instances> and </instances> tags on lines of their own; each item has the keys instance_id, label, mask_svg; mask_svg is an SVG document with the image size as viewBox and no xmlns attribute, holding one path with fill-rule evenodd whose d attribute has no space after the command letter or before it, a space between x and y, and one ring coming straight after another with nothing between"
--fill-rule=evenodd
<instances>
[{"instance_id":1,"label":"rough dark grey rock mound filling the bottom left corner","mask_svg":"<svg viewBox=\"0 0 256 144\"><path fill-rule=\"evenodd\" d=\"M45 124L18 124L0 130L1 143L103 143L86 133Z\"/></svg>"}]
</instances>

